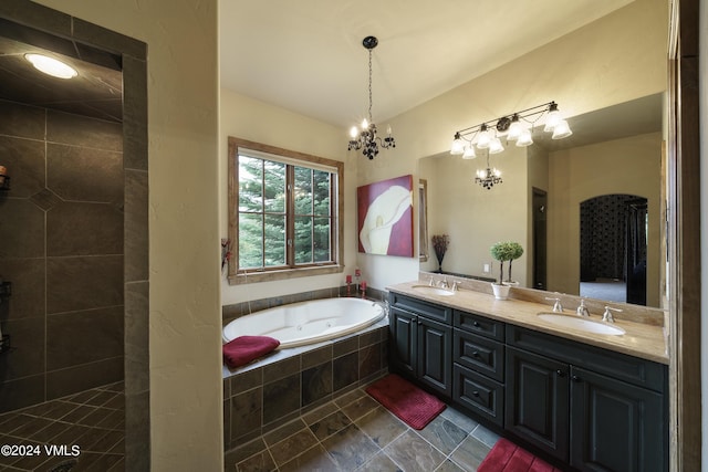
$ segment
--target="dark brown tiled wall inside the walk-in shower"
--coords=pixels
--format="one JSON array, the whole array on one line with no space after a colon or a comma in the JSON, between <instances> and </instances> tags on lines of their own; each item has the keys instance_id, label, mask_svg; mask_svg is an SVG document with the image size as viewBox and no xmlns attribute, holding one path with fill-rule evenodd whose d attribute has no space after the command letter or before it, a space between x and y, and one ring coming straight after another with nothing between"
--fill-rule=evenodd
<instances>
[{"instance_id":1,"label":"dark brown tiled wall inside the walk-in shower","mask_svg":"<svg viewBox=\"0 0 708 472\"><path fill-rule=\"evenodd\" d=\"M0 411L123 379L123 132L0 101Z\"/></svg>"}]
</instances>

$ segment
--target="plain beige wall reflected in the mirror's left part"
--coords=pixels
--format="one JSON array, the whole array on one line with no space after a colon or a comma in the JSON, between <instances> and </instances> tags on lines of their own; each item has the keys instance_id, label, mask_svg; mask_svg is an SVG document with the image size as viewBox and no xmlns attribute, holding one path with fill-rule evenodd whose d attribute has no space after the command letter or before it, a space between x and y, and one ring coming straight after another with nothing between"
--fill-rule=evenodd
<instances>
[{"instance_id":1,"label":"plain beige wall reflected in the mirror's left part","mask_svg":"<svg viewBox=\"0 0 708 472\"><path fill-rule=\"evenodd\" d=\"M499 264L489 249L497 241L517 241L527 248L527 149L510 147L490 156L489 165L502 169L503 182L487 190L475 183L477 169L485 168L482 157L462 159L444 154L420 160L419 177L428 180L428 232L449 234L450 245L442 269L486 277L499 277ZM437 270L435 251L421 268ZM527 284L527 255L514 261L512 276ZM483 264L492 264L483 273ZM506 270L506 269L504 269ZM504 275L506 277L507 275Z\"/></svg>"}]
</instances>

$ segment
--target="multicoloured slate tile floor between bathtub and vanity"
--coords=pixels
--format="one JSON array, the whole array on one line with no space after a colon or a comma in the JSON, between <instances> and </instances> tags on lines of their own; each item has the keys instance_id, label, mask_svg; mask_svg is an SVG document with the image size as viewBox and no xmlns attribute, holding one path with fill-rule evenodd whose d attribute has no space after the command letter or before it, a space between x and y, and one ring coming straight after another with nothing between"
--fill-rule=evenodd
<instances>
[{"instance_id":1,"label":"multicoloured slate tile floor between bathtub and vanity","mask_svg":"<svg viewBox=\"0 0 708 472\"><path fill-rule=\"evenodd\" d=\"M452 407L416 431L365 387L227 452L226 471L476 471L499 436Z\"/></svg>"}]
</instances>

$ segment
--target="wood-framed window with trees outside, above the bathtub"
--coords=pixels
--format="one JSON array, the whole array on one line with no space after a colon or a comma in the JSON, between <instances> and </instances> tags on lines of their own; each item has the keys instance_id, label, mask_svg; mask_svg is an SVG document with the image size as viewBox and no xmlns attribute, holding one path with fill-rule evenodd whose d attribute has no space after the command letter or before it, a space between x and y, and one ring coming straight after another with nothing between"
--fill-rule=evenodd
<instances>
[{"instance_id":1,"label":"wood-framed window with trees outside, above the bathtub","mask_svg":"<svg viewBox=\"0 0 708 472\"><path fill-rule=\"evenodd\" d=\"M343 162L229 137L229 282L341 272L343 178Z\"/></svg>"}]
</instances>

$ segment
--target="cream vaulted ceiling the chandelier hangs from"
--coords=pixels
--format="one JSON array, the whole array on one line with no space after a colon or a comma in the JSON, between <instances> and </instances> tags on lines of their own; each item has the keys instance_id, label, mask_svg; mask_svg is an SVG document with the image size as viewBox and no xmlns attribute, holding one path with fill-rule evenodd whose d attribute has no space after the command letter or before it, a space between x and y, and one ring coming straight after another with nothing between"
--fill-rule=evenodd
<instances>
[{"instance_id":1,"label":"cream vaulted ceiling the chandelier hangs from","mask_svg":"<svg viewBox=\"0 0 708 472\"><path fill-rule=\"evenodd\" d=\"M348 128L385 122L632 0L219 2L221 86Z\"/></svg>"}]
</instances>

